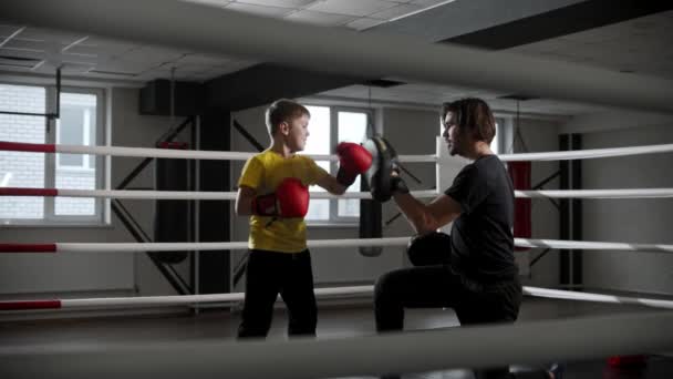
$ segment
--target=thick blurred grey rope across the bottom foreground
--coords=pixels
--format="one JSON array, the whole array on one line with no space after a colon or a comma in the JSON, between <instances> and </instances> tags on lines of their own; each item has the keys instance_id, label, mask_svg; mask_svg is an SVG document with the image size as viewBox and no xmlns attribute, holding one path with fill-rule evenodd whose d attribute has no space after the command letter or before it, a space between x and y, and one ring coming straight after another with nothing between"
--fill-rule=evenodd
<instances>
[{"instance_id":1,"label":"thick blurred grey rope across the bottom foreground","mask_svg":"<svg viewBox=\"0 0 673 379\"><path fill-rule=\"evenodd\" d=\"M512 341L518 341L512 344ZM0 347L11 378L333 378L574 361L673 349L673 313L485 325L358 338ZM37 354L39 352L39 354ZM260 365L260 357L277 357Z\"/></svg>"}]
</instances>

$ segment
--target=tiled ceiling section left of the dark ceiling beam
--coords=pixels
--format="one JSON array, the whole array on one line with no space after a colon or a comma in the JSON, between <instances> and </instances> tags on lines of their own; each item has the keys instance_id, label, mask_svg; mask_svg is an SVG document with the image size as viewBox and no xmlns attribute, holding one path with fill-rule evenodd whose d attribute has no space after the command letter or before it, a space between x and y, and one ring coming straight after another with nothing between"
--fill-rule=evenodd
<instances>
[{"instance_id":1,"label":"tiled ceiling section left of the dark ceiling beam","mask_svg":"<svg viewBox=\"0 0 673 379\"><path fill-rule=\"evenodd\" d=\"M365 30L447 0L185 0L199 6L321 27ZM1 20L1 19L0 19ZM144 45L0 21L0 72L121 79L206 81L260 63L236 57Z\"/></svg>"}]
</instances>

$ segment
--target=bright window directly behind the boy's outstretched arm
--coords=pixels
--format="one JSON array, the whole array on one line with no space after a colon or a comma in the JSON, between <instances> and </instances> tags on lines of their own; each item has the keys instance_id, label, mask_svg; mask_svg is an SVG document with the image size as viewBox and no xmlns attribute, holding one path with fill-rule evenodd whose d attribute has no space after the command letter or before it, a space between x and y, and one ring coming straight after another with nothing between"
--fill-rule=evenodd
<instances>
[{"instance_id":1,"label":"bright window directly behind the boy's outstretched arm","mask_svg":"<svg viewBox=\"0 0 673 379\"><path fill-rule=\"evenodd\" d=\"M363 109L307 106L311 112L306 154L334 154L340 142L361 143L366 139L370 113ZM335 175L338 162L318 161L318 165ZM324 192L313 186L311 192ZM348 192L360 192L360 176ZM313 223L348 223L360 217L360 199L312 199L306 219Z\"/></svg>"}]
</instances>

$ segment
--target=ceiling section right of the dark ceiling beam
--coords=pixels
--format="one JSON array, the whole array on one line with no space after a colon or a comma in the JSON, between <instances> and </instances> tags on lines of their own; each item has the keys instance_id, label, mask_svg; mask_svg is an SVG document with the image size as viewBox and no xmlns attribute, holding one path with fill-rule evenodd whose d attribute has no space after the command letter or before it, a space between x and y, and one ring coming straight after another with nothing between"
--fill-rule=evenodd
<instances>
[{"instance_id":1,"label":"ceiling section right of the dark ceiling beam","mask_svg":"<svg viewBox=\"0 0 673 379\"><path fill-rule=\"evenodd\" d=\"M673 79L673 11L507 49L526 55ZM497 64L495 62L494 64ZM401 79L402 80L402 79ZM403 80L402 80L403 81ZM370 92L371 91L371 92ZM546 115L577 115L605 111L596 105L531 99L500 99L507 93L428 83L410 83L391 89L352 85L322 93L333 99L370 99L392 103L439 104L462 96L487 99L495 109Z\"/></svg>"}]
</instances>

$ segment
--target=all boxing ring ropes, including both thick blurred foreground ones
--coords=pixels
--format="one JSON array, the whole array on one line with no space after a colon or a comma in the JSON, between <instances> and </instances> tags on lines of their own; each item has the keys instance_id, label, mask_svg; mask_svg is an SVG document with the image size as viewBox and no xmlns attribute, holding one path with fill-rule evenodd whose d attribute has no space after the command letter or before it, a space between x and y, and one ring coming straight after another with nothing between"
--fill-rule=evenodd
<instances>
[{"instance_id":1,"label":"all boxing ring ropes, including both thick blurred foreground ones","mask_svg":"<svg viewBox=\"0 0 673 379\"><path fill-rule=\"evenodd\" d=\"M156 9L163 12L156 12ZM218 14L215 14L218 13ZM221 13L221 14L219 14ZM146 43L190 47L201 51L235 53L268 59L322 72L356 76L398 76L418 81L469 84L497 90L517 89L540 96L586 101L640 110L672 112L671 81L636 74L620 74L577 64L550 62L498 52L420 43L407 38L358 34L344 30L289 24L250 16L213 12L209 8L177 1L147 0L22 0L1 2L0 14L9 20L43 27L80 30ZM177 28L169 14L191 21ZM260 27L261 25L261 27ZM287 41L301 40L301 44ZM250 43L250 41L255 43ZM318 49L329 45L330 49ZM395 49L390 49L395 45ZM311 49L315 48L315 49ZM311 50L309 54L309 50ZM424 57L423 60L412 59ZM460 57L460 59L455 59ZM520 70L526 66L527 70ZM528 69L529 68L529 69ZM431 162L437 166L437 188L443 188L460 167L437 144L435 155L400 156L402 162ZM105 156L169 157L244 161L251 153L190 152L122 146L72 146L0 142L0 150L45 154L94 154ZM586 160L608 156L673 152L673 144L500 155L508 161ZM335 161L335 156L313 156ZM444 170L448 167L448 172ZM412 192L416 197L435 197L436 191ZM138 199L235 199L234 192L159 192L2 187L0 196L70 196ZM333 196L314 193L312 198L370 198L369 193ZM517 191L516 197L541 198L660 198L673 196L673 188ZM404 246L407 237L309 240L310 248L356 246ZM633 254L673 253L673 245L604 242L521 239L518 247L610 249ZM107 252L170 252L242 249L246 242L77 244L35 242L2 243L1 254L69 254ZM318 298L371 296L372 286L318 288ZM673 309L673 301L619 297L525 287L528 296L611 304L638 304ZM84 298L0 301L0 311L35 309L92 309L107 307L161 307L205 303L235 304L242 294L158 296L132 298ZM619 330L619 332L615 332ZM519 341L511 345L511 340ZM525 342L524 342L525 341ZM410 347L413 347L410 348ZM269 378L315 378L382 372L420 372L447 368L478 368L511 362L535 363L550 359L600 358L611 355L673 350L673 313L656 310L635 315L587 317L570 320L488 325L397 335L346 339L296 339L290 341L221 341L105 345L99 347L12 349L0 346L0 372L9 377L37 377L45 370L54 378L120 377L161 372L164 377L211 378L214 376ZM259 357L282 356L272 365L259 365ZM142 357L142 359L139 358Z\"/></svg>"}]
</instances>

